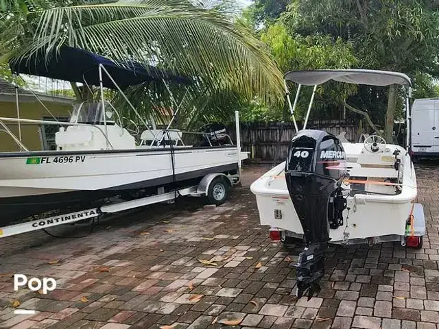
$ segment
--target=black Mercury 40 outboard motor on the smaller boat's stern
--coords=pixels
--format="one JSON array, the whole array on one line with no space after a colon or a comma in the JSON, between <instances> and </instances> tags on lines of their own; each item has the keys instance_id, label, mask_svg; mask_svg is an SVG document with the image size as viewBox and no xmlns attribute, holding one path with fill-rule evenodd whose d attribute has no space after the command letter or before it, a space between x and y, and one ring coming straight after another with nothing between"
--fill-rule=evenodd
<instances>
[{"instance_id":1,"label":"black Mercury 40 outboard motor on the smaller boat's stern","mask_svg":"<svg viewBox=\"0 0 439 329\"><path fill-rule=\"evenodd\" d=\"M294 265L299 298L307 289L308 299L320 291L329 228L343 225L346 199L340 186L347 177L346 155L337 137L320 130L302 130L294 136L285 179L307 243Z\"/></svg>"}]
</instances>

